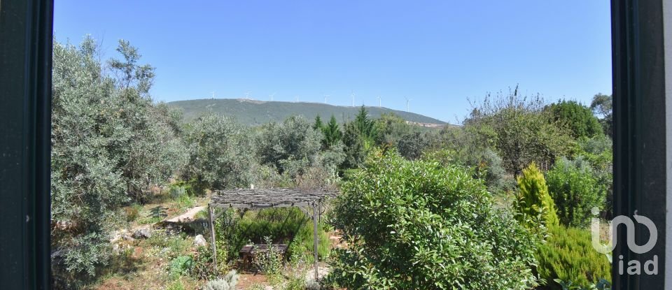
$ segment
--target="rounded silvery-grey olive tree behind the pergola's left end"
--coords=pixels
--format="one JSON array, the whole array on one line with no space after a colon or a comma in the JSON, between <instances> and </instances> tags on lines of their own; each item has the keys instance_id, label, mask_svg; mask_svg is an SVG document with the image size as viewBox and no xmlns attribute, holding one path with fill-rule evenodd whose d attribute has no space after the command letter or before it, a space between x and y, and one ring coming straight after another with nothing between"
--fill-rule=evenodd
<instances>
[{"instance_id":1,"label":"rounded silvery-grey olive tree behind the pergola's left end","mask_svg":"<svg viewBox=\"0 0 672 290\"><path fill-rule=\"evenodd\" d=\"M193 190L249 187L254 162L250 131L228 117L208 113L186 133L190 148L184 177Z\"/></svg>"}]
</instances>

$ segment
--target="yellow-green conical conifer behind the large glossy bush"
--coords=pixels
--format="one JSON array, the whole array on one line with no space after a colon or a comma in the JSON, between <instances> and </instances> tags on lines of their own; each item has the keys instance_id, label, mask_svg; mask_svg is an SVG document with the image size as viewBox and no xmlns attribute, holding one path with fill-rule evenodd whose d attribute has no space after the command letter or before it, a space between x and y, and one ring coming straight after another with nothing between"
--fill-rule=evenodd
<instances>
[{"instance_id":1,"label":"yellow-green conical conifer behind the large glossy bush","mask_svg":"<svg viewBox=\"0 0 672 290\"><path fill-rule=\"evenodd\" d=\"M548 194L544 175L534 163L523 169L523 174L518 177L518 187L517 210L521 213L517 216L519 221L528 223L529 219L540 217L546 227L559 224L555 204Z\"/></svg>"}]
</instances>

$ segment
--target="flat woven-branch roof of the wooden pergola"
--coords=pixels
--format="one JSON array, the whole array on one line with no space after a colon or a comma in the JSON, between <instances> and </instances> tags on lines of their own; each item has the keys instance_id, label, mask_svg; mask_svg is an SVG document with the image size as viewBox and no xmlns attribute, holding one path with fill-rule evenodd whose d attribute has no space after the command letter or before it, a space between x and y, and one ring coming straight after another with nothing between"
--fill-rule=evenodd
<instances>
[{"instance_id":1,"label":"flat woven-branch roof of the wooden pergola","mask_svg":"<svg viewBox=\"0 0 672 290\"><path fill-rule=\"evenodd\" d=\"M312 206L336 196L326 189L233 189L218 190L210 205L218 208L283 208Z\"/></svg>"}]
</instances>

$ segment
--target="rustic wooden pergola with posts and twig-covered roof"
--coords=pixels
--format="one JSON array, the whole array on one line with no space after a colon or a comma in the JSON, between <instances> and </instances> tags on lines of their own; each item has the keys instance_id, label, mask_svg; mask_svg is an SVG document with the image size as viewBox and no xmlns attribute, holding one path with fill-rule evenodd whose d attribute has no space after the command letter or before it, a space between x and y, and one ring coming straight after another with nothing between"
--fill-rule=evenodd
<instances>
[{"instance_id":1,"label":"rustic wooden pergola with posts and twig-covered roof","mask_svg":"<svg viewBox=\"0 0 672 290\"><path fill-rule=\"evenodd\" d=\"M337 194L325 189L235 189L215 191L208 204L212 258L217 270L217 245L214 221L228 208L260 210L263 208L299 208L313 219L313 247L315 257L315 280L318 280L318 222L321 209L327 198ZM220 212L217 209L223 209Z\"/></svg>"}]
</instances>

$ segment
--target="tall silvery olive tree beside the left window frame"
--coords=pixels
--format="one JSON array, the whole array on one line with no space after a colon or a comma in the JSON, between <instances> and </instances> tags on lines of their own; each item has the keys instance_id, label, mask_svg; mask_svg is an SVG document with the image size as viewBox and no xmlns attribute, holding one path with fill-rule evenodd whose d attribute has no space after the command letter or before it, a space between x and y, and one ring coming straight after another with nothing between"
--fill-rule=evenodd
<instances>
[{"instance_id":1,"label":"tall silvery olive tree beside the left window frame","mask_svg":"<svg viewBox=\"0 0 672 290\"><path fill-rule=\"evenodd\" d=\"M115 212L142 201L186 161L172 117L148 89L151 66L125 41L123 60L101 61L96 42L54 43L52 87L52 267L71 288L109 259Z\"/></svg>"}]
</instances>

